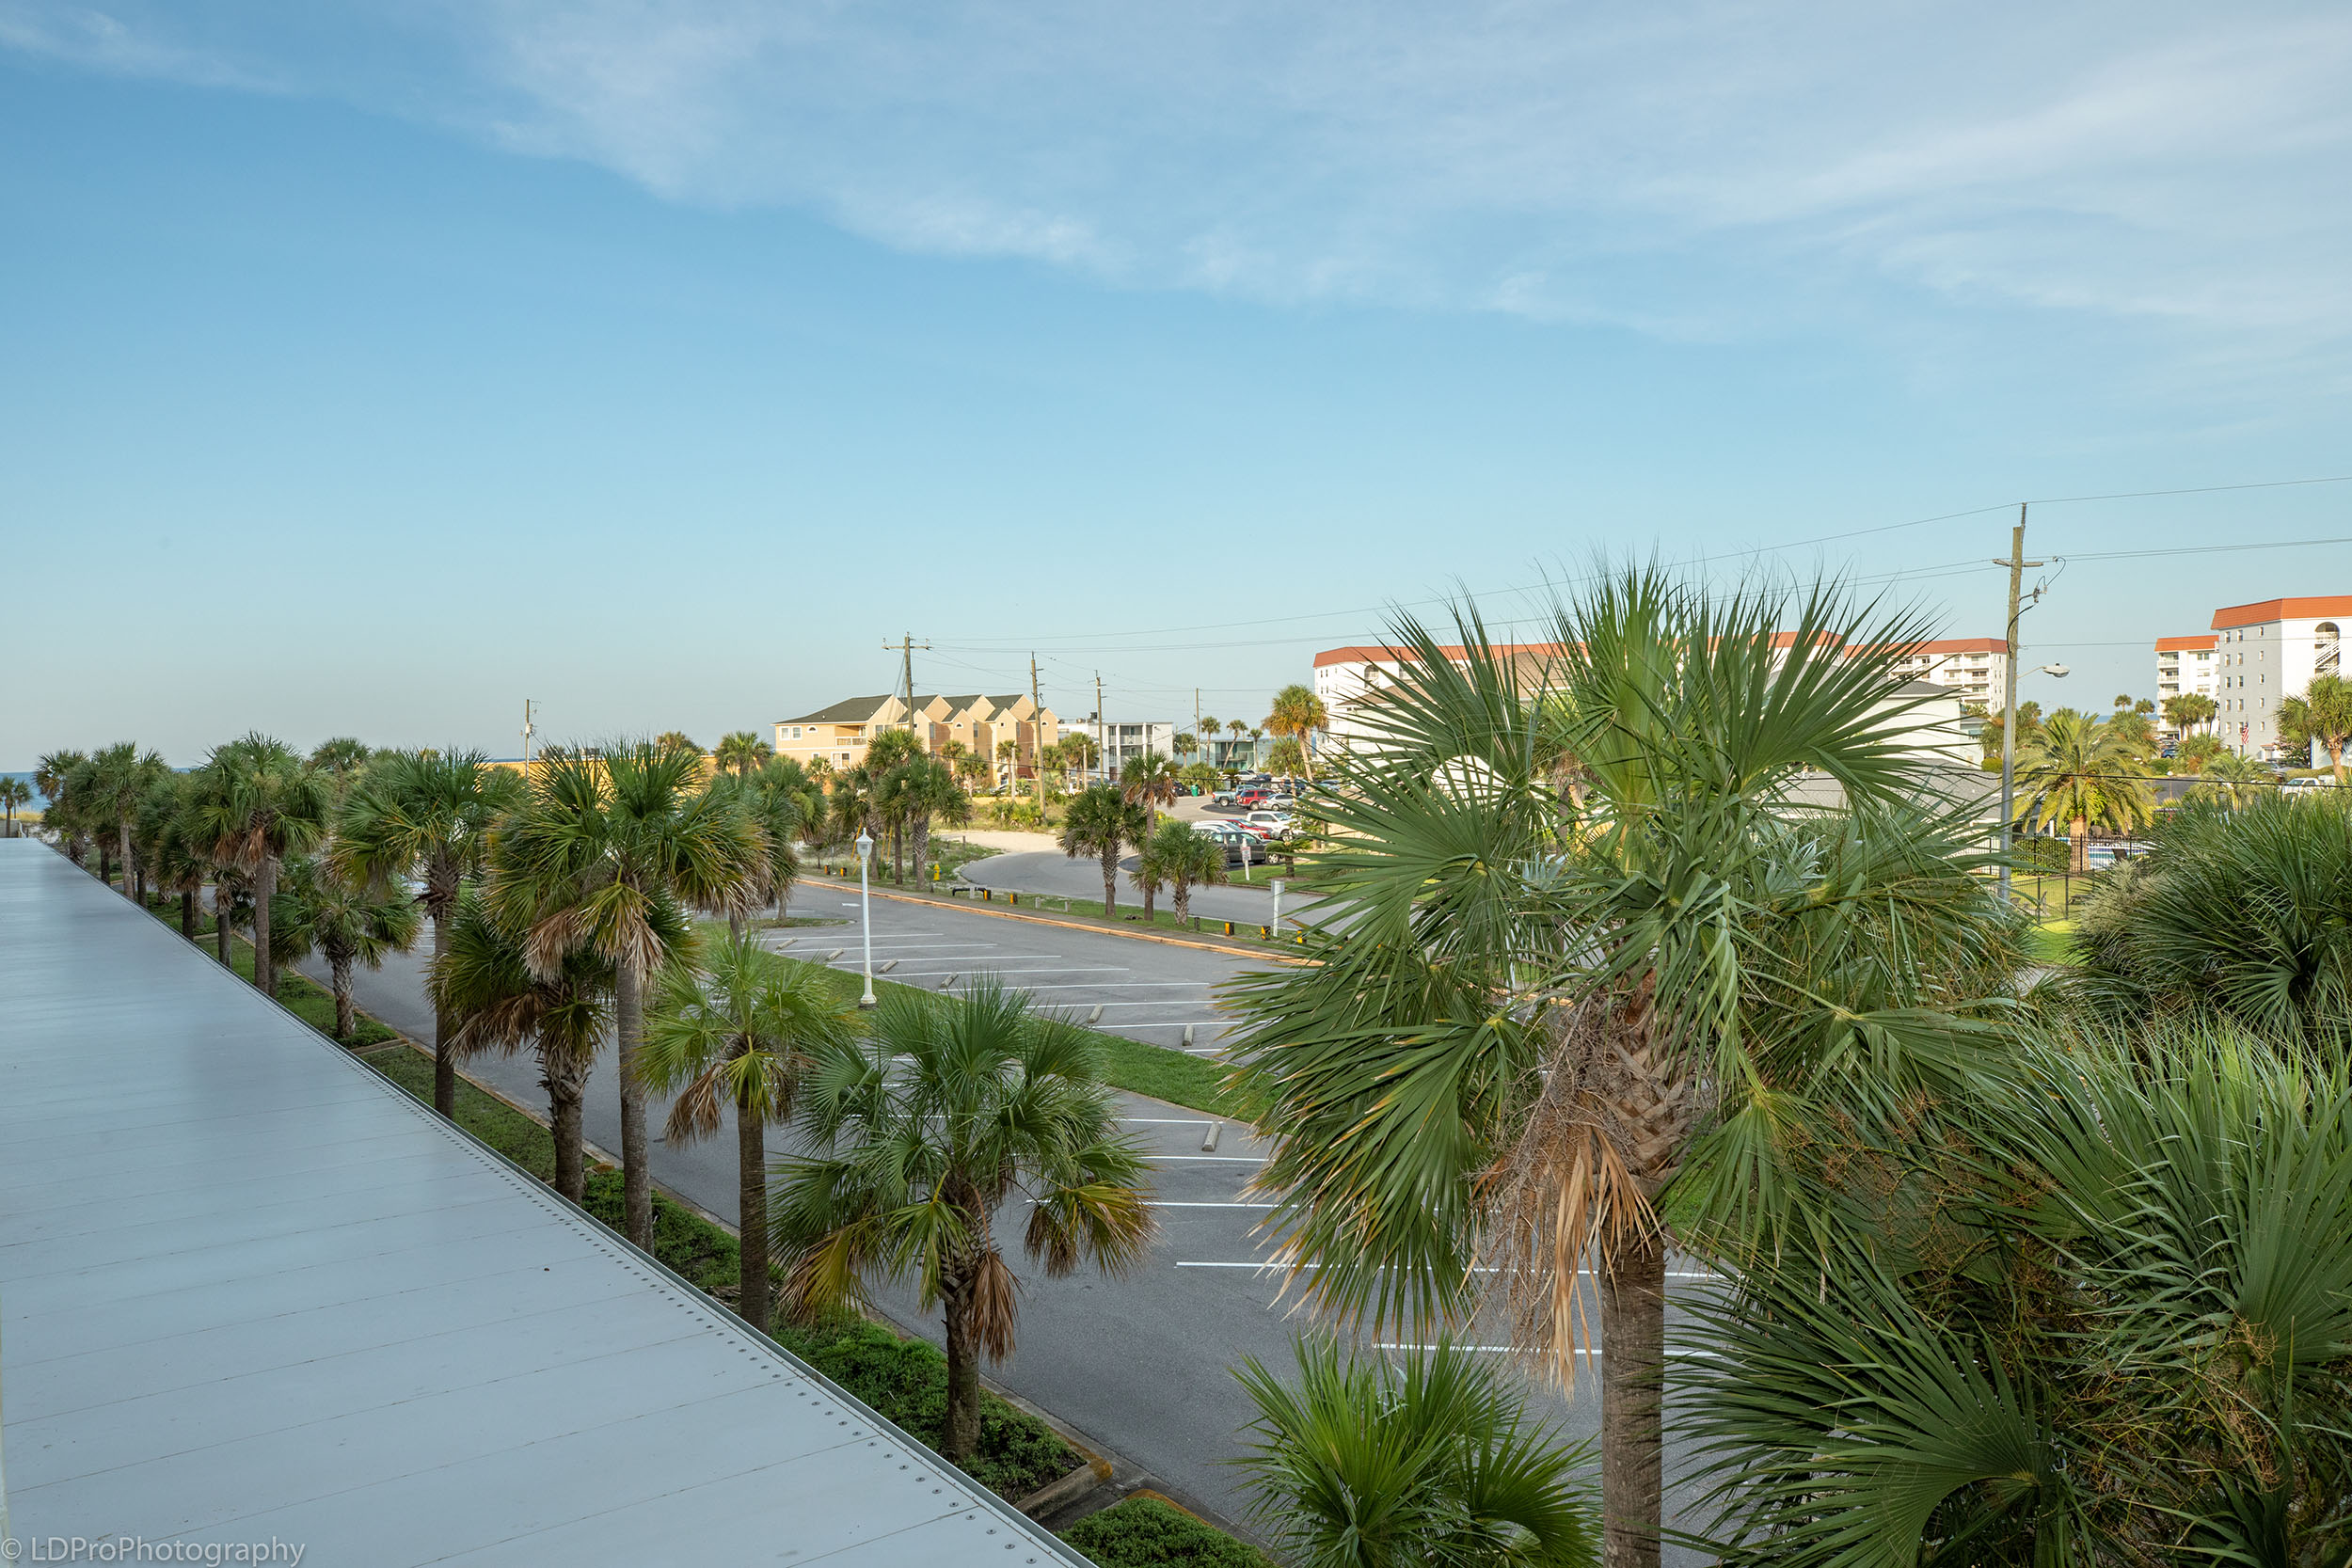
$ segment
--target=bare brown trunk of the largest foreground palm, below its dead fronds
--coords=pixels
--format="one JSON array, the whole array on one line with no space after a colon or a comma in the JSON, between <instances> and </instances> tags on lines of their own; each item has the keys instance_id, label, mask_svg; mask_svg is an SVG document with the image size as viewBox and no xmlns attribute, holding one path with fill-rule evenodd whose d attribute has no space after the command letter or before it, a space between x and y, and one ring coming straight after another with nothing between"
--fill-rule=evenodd
<instances>
[{"instance_id":1,"label":"bare brown trunk of the largest foreground palm, below its dead fronds","mask_svg":"<svg viewBox=\"0 0 2352 1568\"><path fill-rule=\"evenodd\" d=\"M1602 1568L1658 1568L1663 1514L1665 1246L1637 1241L1604 1262Z\"/></svg>"}]
</instances>

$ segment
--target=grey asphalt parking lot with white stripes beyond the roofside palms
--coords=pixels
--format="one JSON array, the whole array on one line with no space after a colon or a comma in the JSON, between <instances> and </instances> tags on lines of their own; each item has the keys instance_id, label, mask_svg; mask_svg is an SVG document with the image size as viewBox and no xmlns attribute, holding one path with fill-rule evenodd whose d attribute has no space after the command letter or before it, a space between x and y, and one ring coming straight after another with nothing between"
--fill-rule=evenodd
<instances>
[{"instance_id":1,"label":"grey asphalt parking lot with white stripes beyond the roofside palms","mask_svg":"<svg viewBox=\"0 0 2352 1568\"><path fill-rule=\"evenodd\" d=\"M851 919L856 893L844 896L837 882L804 884L790 912ZM1134 1039L1176 1046L1190 1023L1195 1051L1214 1051L1225 1034L1214 987L1251 964L1237 954L1014 922L953 905L877 898L873 912L875 961L894 961L891 980L948 987L995 971L1080 1020L1101 1004L1098 1027ZM840 950L833 959L837 969L858 961L854 924L776 936L790 938L795 957L823 959ZM303 969L308 973L313 964ZM381 971L362 971L355 990L367 1011L414 1039L433 1039L421 957L395 954ZM543 1103L529 1056L475 1060L468 1072L524 1105ZM663 1112L661 1103L649 1112L656 1133ZM1209 1119L1202 1112L1143 1095L1122 1093L1120 1112L1155 1154L1160 1241L1127 1279L1094 1272L1047 1279L1016 1260L1023 1279L1021 1347L993 1375L1145 1467L1181 1500L1244 1519L1247 1497L1225 1460L1240 1453L1237 1432L1251 1410L1228 1368L1242 1356L1284 1366L1296 1328L1275 1300L1277 1279L1263 1267L1268 1248L1251 1234L1263 1208L1242 1192L1263 1150L1228 1124L1216 1152L1204 1154L1200 1145ZM588 1081L586 1128L593 1143L619 1150L621 1098L609 1056ZM776 1135L771 1147L783 1143ZM666 1187L713 1213L734 1213L731 1131L687 1147L656 1140L652 1161ZM1016 1234L1016 1225L1009 1218L1004 1234ZM910 1293L882 1293L877 1305L898 1326L934 1342L941 1338L936 1319L922 1314ZM1564 1418L1576 1434L1597 1429L1597 1375L1578 1382Z\"/></svg>"}]
</instances>

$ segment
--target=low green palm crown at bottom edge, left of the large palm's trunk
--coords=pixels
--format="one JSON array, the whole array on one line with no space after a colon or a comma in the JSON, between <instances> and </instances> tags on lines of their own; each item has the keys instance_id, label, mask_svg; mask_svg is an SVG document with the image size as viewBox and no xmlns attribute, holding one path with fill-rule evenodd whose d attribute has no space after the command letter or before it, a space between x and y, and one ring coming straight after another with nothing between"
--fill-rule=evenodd
<instances>
[{"instance_id":1,"label":"low green palm crown at bottom edge, left of the large palm's trunk","mask_svg":"<svg viewBox=\"0 0 2352 1568\"><path fill-rule=\"evenodd\" d=\"M1256 1521L1296 1568L1590 1568L1590 1462L1526 1415L1494 1356L1439 1338L1399 1359L1296 1342L1296 1382L1256 1356L1235 1378L1258 1415L1240 1460Z\"/></svg>"}]
</instances>

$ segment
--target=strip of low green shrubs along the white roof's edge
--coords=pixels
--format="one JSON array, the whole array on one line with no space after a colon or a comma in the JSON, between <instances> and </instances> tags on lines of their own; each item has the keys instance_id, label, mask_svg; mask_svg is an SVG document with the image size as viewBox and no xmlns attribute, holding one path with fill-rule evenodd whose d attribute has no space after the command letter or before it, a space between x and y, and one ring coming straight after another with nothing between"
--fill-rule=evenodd
<instances>
[{"instance_id":1,"label":"strip of low green shrubs along the white roof's edge","mask_svg":"<svg viewBox=\"0 0 2352 1568\"><path fill-rule=\"evenodd\" d=\"M367 1051L360 1060L421 1103L433 1103L433 1058L416 1046L402 1041ZM548 1128L466 1079L456 1086L456 1124L539 1180L555 1175L555 1138ZM621 1229L619 1171L590 1166L586 1199L588 1213ZM654 1194L654 1255L715 1300L734 1302L743 1267L736 1239L661 1192ZM776 1281L783 1281L781 1269ZM816 1326L779 1321L771 1338L920 1443L938 1446L948 1420L948 1359L927 1340L901 1340L889 1328L854 1316ZM981 1392L981 1448L962 1467L974 1481L1018 1502L1080 1465L1082 1455L1042 1420Z\"/></svg>"}]
</instances>

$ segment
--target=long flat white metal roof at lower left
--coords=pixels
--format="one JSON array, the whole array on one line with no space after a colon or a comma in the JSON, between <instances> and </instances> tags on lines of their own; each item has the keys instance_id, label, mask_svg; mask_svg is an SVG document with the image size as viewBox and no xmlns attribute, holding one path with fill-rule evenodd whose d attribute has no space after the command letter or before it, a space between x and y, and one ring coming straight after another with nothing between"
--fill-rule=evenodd
<instances>
[{"instance_id":1,"label":"long flat white metal roof at lower left","mask_svg":"<svg viewBox=\"0 0 2352 1568\"><path fill-rule=\"evenodd\" d=\"M0 1446L21 1542L1084 1561L31 839L0 842Z\"/></svg>"}]
</instances>

